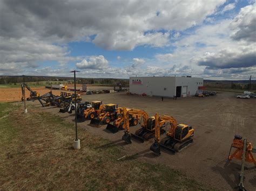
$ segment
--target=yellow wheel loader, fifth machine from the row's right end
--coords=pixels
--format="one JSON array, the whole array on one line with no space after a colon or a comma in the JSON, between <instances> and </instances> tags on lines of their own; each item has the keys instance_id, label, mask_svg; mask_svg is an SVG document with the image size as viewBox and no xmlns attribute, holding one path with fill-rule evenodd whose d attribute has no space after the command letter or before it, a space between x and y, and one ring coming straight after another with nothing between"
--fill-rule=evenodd
<instances>
[{"instance_id":1,"label":"yellow wheel loader, fifth machine from the row's right end","mask_svg":"<svg viewBox=\"0 0 256 191\"><path fill-rule=\"evenodd\" d=\"M105 105L100 101L91 102L92 107L84 110L85 119L93 119L105 112Z\"/></svg>"}]
</instances>

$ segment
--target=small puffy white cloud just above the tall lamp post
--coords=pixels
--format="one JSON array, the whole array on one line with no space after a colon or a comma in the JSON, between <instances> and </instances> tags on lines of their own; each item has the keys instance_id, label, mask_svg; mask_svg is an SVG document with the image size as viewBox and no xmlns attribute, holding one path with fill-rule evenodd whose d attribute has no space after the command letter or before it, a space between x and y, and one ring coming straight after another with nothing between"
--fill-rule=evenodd
<instances>
[{"instance_id":1,"label":"small puffy white cloud just above the tall lamp post","mask_svg":"<svg viewBox=\"0 0 256 191\"><path fill-rule=\"evenodd\" d=\"M79 69L98 69L103 70L109 66L109 62L104 58L103 55L90 56L89 61L83 59L81 62L76 63Z\"/></svg>"}]
</instances>

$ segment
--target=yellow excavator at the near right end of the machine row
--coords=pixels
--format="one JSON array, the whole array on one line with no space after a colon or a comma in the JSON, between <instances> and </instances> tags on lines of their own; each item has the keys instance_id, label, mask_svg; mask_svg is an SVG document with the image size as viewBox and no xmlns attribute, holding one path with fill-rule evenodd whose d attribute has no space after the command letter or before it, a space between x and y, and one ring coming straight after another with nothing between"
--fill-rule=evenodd
<instances>
[{"instance_id":1,"label":"yellow excavator at the near right end of the machine row","mask_svg":"<svg viewBox=\"0 0 256 191\"><path fill-rule=\"evenodd\" d=\"M170 129L166 132L166 137L160 141L160 126L162 121L170 123ZM150 150L154 154L160 155L160 147L167 151L176 153L186 147L187 145L193 143L192 137L194 136L194 129L192 126L185 124L178 124L176 119L171 116L166 115L155 115L155 142L151 145Z\"/></svg>"}]
</instances>

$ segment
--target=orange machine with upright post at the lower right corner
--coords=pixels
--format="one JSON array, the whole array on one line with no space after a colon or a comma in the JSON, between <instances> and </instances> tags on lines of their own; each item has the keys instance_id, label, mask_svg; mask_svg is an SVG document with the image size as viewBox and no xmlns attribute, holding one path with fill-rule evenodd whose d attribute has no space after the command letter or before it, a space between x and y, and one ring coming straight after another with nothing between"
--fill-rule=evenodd
<instances>
[{"instance_id":1,"label":"orange machine with upright post at the lower right corner","mask_svg":"<svg viewBox=\"0 0 256 191\"><path fill-rule=\"evenodd\" d=\"M236 148L233 154L231 153L232 148ZM252 144L247 141L247 139L242 139L241 136L235 135L233 143L230 147L230 153L228 154L228 160L238 159L241 160L241 172L240 172L240 181L238 184L239 190L246 190L244 187L244 168L245 161L254 164L256 167L256 160L253 157L252 153L256 153L256 149L252 147Z\"/></svg>"}]
</instances>

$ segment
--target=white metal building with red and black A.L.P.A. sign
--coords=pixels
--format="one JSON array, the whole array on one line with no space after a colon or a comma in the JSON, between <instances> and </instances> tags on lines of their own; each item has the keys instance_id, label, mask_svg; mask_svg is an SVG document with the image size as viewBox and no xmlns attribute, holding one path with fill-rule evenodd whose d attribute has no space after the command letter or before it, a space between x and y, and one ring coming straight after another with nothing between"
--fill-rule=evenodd
<instances>
[{"instance_id":1,"label":"white metal building with red and black A.L.P.A. sign","mask_svg":"<svg viewBox=\"0 0 256 191\"><path fill-rule=\"evenodd\" d=\"M203 91L201 77L130 77L130 93L149 96L187 97Z\"/></svg>"}]
</instances>

